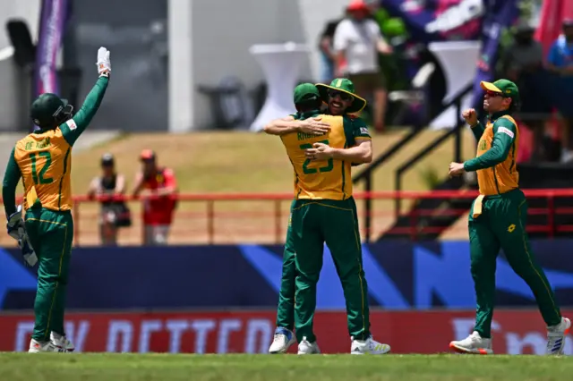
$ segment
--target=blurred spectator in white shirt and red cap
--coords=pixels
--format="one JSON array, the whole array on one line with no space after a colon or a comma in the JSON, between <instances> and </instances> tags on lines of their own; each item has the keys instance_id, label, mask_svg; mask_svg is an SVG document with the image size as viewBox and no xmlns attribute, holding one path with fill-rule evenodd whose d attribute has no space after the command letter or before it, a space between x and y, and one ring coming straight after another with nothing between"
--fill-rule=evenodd
<instances>
[{"instance_id":1,"label":"blurred spectator in white shirt and red cap","mask_svg":"<svg viewBox=\"0 0 573 381\"><path fill-rule=\"evenodd\" d=\"M344 73L355 84L356 93L371 98L372 121L376 131L384 131L386 81L378 63L378 53L389 54L391 47L382 38L380 26L372 20L370 8L355 0L346 8L348 17L338 24L334 34L337 52L336 76Z\"/></svg>"}]
</instances>

